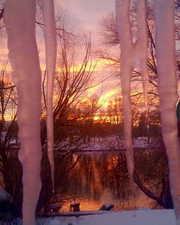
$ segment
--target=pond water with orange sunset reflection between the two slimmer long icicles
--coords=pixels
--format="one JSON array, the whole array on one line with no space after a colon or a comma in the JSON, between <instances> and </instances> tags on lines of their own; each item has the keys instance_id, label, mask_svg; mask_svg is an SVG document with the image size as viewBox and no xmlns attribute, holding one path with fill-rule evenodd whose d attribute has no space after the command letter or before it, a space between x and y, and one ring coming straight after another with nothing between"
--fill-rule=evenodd
<instances>
[{"instance_id":1,"label":"pond water with orange sunset reflection between the two slimmer long icicles","mask_svg":"<svg viewBox=\"0 0 180 225\"><path fill-rule=\"evenodd\" d=\"M122 153L72 154L57 157L56 191L63 200L61 211L79 202L81 210L97 210L104 203L115 210L153 207L154 201L140 190L132 195Z\"/></svg>"}]
</instances>

